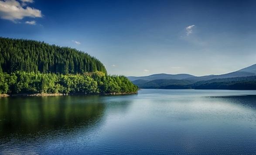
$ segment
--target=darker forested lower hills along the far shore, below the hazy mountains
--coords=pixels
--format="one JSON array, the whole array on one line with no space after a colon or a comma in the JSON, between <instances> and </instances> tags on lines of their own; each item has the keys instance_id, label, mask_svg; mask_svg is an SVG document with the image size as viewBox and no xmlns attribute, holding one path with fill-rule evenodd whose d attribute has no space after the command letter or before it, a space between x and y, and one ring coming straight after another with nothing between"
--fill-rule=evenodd
<instances>
[{"instance_id":1,"label":"darker forested lower hills along the far shore, below the hazy mountains","mask_svg":"<svg viewBox=\"0 0 256 155\"><path fill-rule=\"evenodd\" d=\"M238 89L256 90L256 76L211 79L195 82L192 80L157 79L133 81L144 89Z\"/></svg>"}]
</instances>

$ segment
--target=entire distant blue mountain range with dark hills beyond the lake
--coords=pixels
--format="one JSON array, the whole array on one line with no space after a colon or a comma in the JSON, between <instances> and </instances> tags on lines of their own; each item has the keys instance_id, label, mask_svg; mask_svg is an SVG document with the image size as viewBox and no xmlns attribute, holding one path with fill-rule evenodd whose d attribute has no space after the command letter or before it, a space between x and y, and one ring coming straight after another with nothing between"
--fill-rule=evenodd
<instances>
[{"instance_id":1,"label":"entire distant blue mountain range with dark hills beyond the lake","mask_svg":"<svg viewBox=\"0 0 256 155\"><path fill-rule=\"evenodd\" d=\"M128 76L133 84L146 89L256 89L256 64L222 75L154 74Z\"/></svg>"}]
</instances>

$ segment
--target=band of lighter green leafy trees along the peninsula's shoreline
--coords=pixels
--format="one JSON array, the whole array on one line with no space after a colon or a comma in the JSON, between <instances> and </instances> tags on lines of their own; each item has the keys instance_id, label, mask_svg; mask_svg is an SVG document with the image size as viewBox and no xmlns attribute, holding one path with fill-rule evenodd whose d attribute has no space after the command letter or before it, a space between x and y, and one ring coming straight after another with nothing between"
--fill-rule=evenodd
<instances>
[{"instance_id":1,"label":"band of lighter green leafy trees along the peninsula's shoreline","mask_svg":"<svg viewBox=\"0 0 256 155\"><path fill-rule=\"evenodd\" d=\"M102 72L84 74L0 73L0 94L20 93L131 93L137 92L125 76L106 76Z\"/></svg>"}]
</instances>

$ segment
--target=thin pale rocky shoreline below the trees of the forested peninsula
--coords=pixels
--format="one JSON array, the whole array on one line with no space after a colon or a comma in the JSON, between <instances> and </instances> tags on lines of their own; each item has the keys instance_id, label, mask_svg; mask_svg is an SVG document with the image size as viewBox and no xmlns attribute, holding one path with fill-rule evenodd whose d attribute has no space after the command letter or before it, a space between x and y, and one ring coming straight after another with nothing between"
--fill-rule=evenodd
<instances>
[{"instance_id":1,"label":"thin pale rocky shoreline below the trees of the forested peninsula","mask_svg":"<svg viewBox=\"0 0 256 155\"><path fill-rule=\"evenodd\" d=\"M112 93L97 93L97 94L84 94L84 93L71 93L71 94L61 94L61 93L36 93L36 94L0 94L0 97L14 97L14 96L75 96L75 95L84 95L84 96L89 96L89 95L105 95L105 96L110 96L110 95L128 95L128 94L137 94L137 92L112 92Z\"/></svg>"}]
</instances>

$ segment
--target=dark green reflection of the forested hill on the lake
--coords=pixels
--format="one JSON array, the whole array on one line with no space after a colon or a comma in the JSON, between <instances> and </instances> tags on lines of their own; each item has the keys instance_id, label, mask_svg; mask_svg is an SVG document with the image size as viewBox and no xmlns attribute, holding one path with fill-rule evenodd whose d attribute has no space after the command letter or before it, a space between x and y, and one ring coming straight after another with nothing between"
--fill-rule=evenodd
<instances>
[{"instance_id":1,"label":"dark green reflection of the forested hill on the lake","mask_svg":"<svg viewBox=\"0 0 256 155\"><path fill-rule=\"evenodd\" d=\"M0 99L0 136L93 126L105 111L99 96Z\"/></svg>"}]
</instances>

